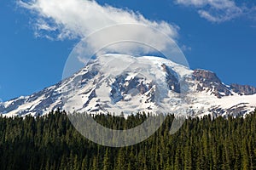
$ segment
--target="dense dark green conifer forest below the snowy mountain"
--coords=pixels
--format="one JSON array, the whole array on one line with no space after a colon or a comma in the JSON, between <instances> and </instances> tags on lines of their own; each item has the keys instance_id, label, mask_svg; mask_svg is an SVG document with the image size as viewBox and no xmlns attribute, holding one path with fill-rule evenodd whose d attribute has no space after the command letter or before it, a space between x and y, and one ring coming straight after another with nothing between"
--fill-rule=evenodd
<instances>
[{"instance_id":1,"label":"dense dark green conifer forest below the snowy mountain","mask_svg":"<svg viewBox=\"0 0 256 170\"><path fill-rule=\"evenodd\" d=\"M146 118L95 117L117 129L135 127ZM0 169L256 169L256 111L246 118L190 118L170 135L172 120L167 116L140 144L109 148L80 135L65 112L0 117Z\"/></svg>"}]
</instances>

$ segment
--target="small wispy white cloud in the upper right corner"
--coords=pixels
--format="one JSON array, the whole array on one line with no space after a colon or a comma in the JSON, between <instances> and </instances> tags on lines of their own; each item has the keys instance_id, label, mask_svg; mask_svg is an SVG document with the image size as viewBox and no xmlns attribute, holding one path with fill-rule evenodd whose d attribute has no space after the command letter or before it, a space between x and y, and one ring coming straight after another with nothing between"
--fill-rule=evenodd
<instances>
[{"instance_id":1,"label":"small wispy white cloud in the upper right corner","mask_svg":"<svg viewBox=\"0 0 256 170\"><path fill-rule=\"evenodd\" d=\"M238 5L232 0L176 0L176 2L196 8L202 18L217 23L233 20L253 9L247 8L246 4Z\"/></svg>"}]
</instances>

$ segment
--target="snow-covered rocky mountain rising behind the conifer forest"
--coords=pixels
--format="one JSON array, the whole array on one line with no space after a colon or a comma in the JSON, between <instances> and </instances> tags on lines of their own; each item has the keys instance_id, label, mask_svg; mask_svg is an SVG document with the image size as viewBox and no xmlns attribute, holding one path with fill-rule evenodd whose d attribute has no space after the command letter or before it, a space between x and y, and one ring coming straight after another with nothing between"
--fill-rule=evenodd
<instances>
[{"instance_id":1,"label":"snow-covered rocky mountain rising behind the conifer forest","mask_svg":"<svg viewBox=\"0 0 256 170\"><path fill-rule=\"evenodd\" d=\"M38 116L61 108L90 113L240 116L255 106L256 88L225 85L212 71L192 71L159 57L105 54L49 88L0 103L0 114Z\"/></svg>"}]
</instances>

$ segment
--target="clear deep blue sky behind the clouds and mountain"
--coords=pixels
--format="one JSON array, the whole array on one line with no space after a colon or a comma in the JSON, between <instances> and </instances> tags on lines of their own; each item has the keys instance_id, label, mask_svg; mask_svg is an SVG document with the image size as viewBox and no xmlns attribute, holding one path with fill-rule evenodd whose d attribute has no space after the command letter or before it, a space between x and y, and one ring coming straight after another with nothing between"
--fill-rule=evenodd
<instances>
[{"instance_id":1,"label":"clear deep blue sky behind the clouds and mountain","mask_svg":"<svg viewBox=\"0 0 256 170\"><path fill-rule=\"evenodd\" d=\"M58 0L54 1L58 4ZM120 8L120 14L129 9L149 21L165 21L173 28L174 33L169 33L183 49L190 68L214 71L227 84L237 82L256 86L256 9L253 1L96 2L100 7L106 8L108 3ZM53 15L51 20L45 19L36 3L33 6L36 9L22 4L17 5L16 1L0 2L0 99L3 100L32 94L61 81L68 54L80 38L93 29L84 26L85 23L86 33L82 32L82 36L80 32L73 34L72 28L63 29L63 26L58 28L55 25L55 20L59 20L55 18L57 15ZM47 5L44 7L47 8ZM119 18L116 20L119 22ZM90 22L88 25L91 25ZM58 30L57 33L55 30ZM63 30L68 34L66 37Z\"/></svg>"}]
</instances>

